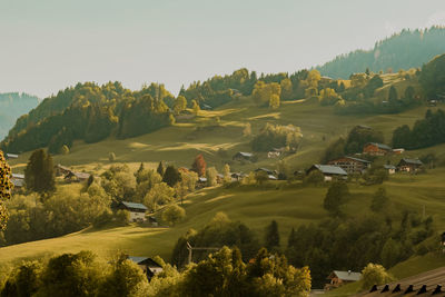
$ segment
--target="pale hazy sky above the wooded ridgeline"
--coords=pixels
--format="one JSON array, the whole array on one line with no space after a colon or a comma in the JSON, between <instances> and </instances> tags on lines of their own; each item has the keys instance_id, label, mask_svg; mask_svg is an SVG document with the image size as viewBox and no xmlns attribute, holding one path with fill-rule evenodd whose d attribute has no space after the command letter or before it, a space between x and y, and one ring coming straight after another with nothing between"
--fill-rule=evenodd
<instances>
[{"instance_id":1,"label":"pale hazy sky above the wooded ridgeline","mask_svg":"<svg viewBox=\"0 0 445 297\"><path fill-rule=\"evenodd\" d=\"M294 72L445 24L444 0L0 0L0 92Z\"/></svg>"}]
</instances>

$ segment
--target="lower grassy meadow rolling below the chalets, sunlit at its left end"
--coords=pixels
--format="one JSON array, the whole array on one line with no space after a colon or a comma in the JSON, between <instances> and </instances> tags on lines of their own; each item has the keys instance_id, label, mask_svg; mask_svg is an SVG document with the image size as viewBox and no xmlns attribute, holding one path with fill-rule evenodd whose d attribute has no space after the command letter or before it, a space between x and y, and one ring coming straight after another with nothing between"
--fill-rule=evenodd
<instances>
[{"instance_id":1,"label":"lower grassy meadow rolling below the chalets, sunlit at its left end","mask_svg":"<svg viewBox=\"0 0 445 297\"><path fill-rule=\"evenodd\" d=\"M434 217L437 229L445 228L445 169L429 170L425 175L396 175L385 182L388 196L397 206L411 208L418 214L425 206L426 215ZM218 211L226 212L230 219L240 220L257 231L261 231L271 219L276 219L285 246L291 227L317 222L327 218L323 199L327 188L304 188L276 182L276 187L258 189L208 188L187 197L185 208L187 218L172 228L119 227L111 229L86 229L63 237L27 242L0 248L0 263L17 261L23 258L41 257L48 254L90 249L107 256L111 251L125 250L130 255L155 256L169 259L171 249L179 236L189 228L202 228ZM276 189L280 188L281 189ZM372 194L377 186L349 185L352 199L346 211L355 215L368 212Z\"/></svg>"}]
</instances>

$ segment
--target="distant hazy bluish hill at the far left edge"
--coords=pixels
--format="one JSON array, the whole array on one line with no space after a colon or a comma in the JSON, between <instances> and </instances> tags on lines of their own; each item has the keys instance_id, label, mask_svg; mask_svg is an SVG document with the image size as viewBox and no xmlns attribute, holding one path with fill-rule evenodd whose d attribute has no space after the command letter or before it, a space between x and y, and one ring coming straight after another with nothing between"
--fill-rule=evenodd
<instances>
[{"instance_id":1,"label":"distant hazy bluish hill at the far left edge","mask_svg":"<svg viewBox=\"0 0 445 297\"><path fill-rule=\"evenodd\" d=\"M0 93L0 139L8 135L18 117L37 107L39 98L28 93Z\"/></svg>"}]
</instances>

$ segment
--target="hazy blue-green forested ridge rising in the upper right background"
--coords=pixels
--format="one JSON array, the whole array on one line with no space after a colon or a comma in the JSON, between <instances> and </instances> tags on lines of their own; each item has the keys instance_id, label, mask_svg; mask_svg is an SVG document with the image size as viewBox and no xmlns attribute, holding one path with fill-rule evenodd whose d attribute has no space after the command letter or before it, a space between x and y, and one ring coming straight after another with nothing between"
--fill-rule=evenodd
<instances>
[{"instance_id":1,"label":"hazy blue-green forested ridge rising in the upper right background","mask_svg":"<svg viewBox=\"0 0 445 297\"><path fill-rule=\"evenodd\" d=\"M317 67L324 76L348 78L352 73L394 71L422 67L435 56L445 52L445 28L432 27L427 30L403 30L375 43L374 49L356 50L340 55Z\"/></svg>"}]
</instances>

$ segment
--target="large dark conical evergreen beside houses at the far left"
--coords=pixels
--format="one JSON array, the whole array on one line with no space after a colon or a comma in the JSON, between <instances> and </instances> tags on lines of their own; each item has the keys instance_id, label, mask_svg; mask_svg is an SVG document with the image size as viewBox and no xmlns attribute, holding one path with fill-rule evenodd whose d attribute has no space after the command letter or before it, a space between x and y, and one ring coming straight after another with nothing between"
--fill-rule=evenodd
<instances>
[{"instance_id":1,"label":"large dark conical evergreen beside houses at the far left","mask_svg":"<svg viewBox=\"0 0 445 297\"><path fill-rule=\"evenodd\" d=\"M36 150L29 158L24 169L24 181L28 189L39 194L56 189L52 157L43 149Z\"/></svg>"}]
</instances>

